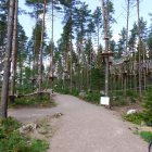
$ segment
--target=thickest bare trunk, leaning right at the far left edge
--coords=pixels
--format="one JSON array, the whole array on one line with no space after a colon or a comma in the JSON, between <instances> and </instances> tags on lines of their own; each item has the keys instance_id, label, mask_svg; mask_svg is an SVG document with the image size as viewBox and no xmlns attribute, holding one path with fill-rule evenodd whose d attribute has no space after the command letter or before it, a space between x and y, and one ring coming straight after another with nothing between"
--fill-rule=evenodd
<instances>
[{"instance_id":1,"label":"thickest bare trunk, leaning right at the far left edge","mask_svg":"<svg viewBox=\"0 0 152 152\"><path fill-rule=\"evenodd\" d=\"M10 78L12 39L13 39L12 36L13 36L13 21L14 21L14 4L15 4L15 0L10 0L7 52L5 52L5 60L4 60L4 74L3 74L3 81L2 81L0 117L8 117L9 78Z\"/></svg>"}]
</instances>

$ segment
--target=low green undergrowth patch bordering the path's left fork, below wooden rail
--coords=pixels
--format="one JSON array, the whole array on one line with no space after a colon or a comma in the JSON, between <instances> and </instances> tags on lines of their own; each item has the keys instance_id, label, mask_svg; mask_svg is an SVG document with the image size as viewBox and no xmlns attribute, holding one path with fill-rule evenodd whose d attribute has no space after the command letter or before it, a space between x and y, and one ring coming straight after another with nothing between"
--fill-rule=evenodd
<instances>
[{"instance_id":1,"label":"low green undergrowth patch bordering the path's left fork, below wooden rail","mask_svg":"<svg viewBox=\"0 0 152 152\"><path fill-rule=\"evenodd\" d=\"M55 103L50 98L49 93L46 94L34 94L30 97L16 98L15 102L11 106L17 105L28 105L28 106L40 106L40 107L51 107L55 106Z\"/></svg>"}]
</instances>

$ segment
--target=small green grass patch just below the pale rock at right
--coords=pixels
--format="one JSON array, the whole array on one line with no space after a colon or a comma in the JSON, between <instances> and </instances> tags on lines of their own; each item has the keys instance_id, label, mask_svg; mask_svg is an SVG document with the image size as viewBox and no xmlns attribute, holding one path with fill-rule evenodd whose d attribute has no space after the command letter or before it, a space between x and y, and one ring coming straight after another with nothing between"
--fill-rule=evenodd
<instances>
[{"instance_id":1,"label":"small green grass patch just below the pale rock at right","mask_svg":"<svg viewBox=\"0 0 152 152\"><path fill-rule=\"evenodd\" d=\"M129 114L129 115L123 115L123 118L125 121L131 122L132 124L136 124L136 125L141 125L141 123L143 122L142 113L135 113L135 114Z\"/></svg>"}]
</instances>

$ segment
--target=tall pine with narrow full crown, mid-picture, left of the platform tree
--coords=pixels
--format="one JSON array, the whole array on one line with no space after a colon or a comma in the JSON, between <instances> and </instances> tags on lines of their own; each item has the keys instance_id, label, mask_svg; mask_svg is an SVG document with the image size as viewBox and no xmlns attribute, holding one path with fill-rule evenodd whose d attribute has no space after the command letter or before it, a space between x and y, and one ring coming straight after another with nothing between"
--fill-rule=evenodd
<instances>
[{"instance_id":1,"label":"tall pine with narrow full crown, mid-picture, left of the platform tree","mask_svg":"<svg viewBox=\"0 0 152 152\"><path fill-rule=\"evenodd\" d=\"M87 26L90 21L91 11L88 9L88 4L81 3L80 8L75 9L75 31L76 40L78 43L78 56L79 56L79 90L84 90L84 42L86 40Z\"/></svg>"}]
</instances>

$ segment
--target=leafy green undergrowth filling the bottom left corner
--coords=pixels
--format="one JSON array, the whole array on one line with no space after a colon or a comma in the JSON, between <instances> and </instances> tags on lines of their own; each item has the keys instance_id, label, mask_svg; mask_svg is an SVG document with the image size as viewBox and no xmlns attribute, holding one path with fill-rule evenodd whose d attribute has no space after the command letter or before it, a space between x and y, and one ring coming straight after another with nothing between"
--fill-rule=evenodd
<instances>
[{"instance_id":1,"label":"leafy green undergrowth filling the bottom left corner","mask_svg":"<svg viewBox=\"0 0 152 152\"><path fill-rule=\"evenodd\" d=\"M22 136L20 127L12 117L0 119L0 152L47 152L47 141Z\"/></svg>"}]
</instances>

